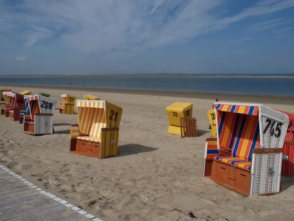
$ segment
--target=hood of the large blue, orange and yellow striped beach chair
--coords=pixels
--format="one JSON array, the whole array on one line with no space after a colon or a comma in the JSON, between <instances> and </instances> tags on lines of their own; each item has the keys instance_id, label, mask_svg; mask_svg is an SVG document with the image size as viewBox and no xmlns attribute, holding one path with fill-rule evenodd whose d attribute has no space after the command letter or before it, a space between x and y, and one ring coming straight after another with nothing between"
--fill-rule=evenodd
<instances>
[{"instance_id":1,"label":"hood of the large blue, orange and yellow striped beach chair","mask_svg":"<svg viewBox=\"0 0 294 221\"><path fill-rule=\"evenodd\" d=\"M218 148L231 152L231 158L251 161L254 148L282 148L287 115L256 104L215 103L215 112Z\"/></svg>"}]
</instances>

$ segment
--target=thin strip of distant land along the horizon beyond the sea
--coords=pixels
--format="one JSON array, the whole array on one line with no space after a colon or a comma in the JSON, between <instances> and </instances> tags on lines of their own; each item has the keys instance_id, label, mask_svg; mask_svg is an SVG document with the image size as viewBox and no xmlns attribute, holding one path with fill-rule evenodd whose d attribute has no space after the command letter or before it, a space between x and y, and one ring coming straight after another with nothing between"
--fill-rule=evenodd
<instances>
[{"instance_id":1,"label":"thin strip of distant land along the horizon beyond the sea","mask_svg":"<svg viewBox=\"0 0 294 221\"><path fill-rule=\"evenodd\" d=\"M294 75L193 75L193 74L80 74L80 75L47 75L47 76L0 76L0 78L66 78L66 77L142 77L142 78L265 78L265 79L294 79Z\"/></svg>"}]
</instances>

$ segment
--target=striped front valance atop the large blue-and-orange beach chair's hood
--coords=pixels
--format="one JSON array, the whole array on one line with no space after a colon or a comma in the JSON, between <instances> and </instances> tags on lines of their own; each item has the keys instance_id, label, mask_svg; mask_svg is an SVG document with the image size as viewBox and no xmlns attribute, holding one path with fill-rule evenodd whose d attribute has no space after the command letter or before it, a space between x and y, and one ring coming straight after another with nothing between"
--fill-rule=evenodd
<instances>
[{"instance_id":1,"label":"striped front valance atop the large blue-and-orange beach chair's hood","mask_svg":"<svg viewBox=\"0 0 294 221\"><path fill-rule=\"evenodd\" d=\"M215 104L215 109L218 111L258 115L258 106Z\"/></svg>"}]
</instances>

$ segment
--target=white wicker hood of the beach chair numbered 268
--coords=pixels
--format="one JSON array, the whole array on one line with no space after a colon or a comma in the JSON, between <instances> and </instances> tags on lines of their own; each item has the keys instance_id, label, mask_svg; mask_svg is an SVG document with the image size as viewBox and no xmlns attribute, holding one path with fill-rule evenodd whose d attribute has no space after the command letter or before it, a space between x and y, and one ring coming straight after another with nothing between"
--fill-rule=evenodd
<instances>
[{"instance_id":1,"label":"white wicker hood of the beach chair numbered 268","mask_svg":"<svg viewBox=\"0 0 294 221\"><path fill-rule=\"evenodd\" d=\"M27 97L29 113L34 119L35 113L54 114L57 101L53 98L48 98L42 95L33 95Z\"/></svg>"}]
</instances>

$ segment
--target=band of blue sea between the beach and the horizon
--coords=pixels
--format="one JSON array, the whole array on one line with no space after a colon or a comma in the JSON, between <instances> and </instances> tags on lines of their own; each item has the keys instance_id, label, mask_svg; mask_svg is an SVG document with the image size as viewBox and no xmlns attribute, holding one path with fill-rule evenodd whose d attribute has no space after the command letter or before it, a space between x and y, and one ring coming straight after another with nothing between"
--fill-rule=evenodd
<instances>
[{"instance_id":1,"label":"band of blue sea between the beach and the horizon","mask_svg":"<svg viewBox=\"0 0 294 221\"><path fill-rule=\"evenodd\" d=\"M0 84L48 85L294 97L294 74L113 74L4 76Z\"/></svg>"}]
</instances>

